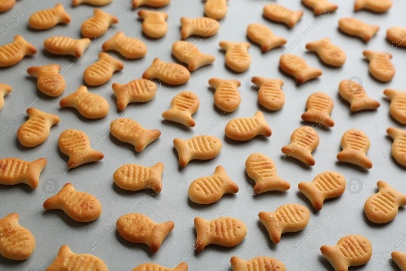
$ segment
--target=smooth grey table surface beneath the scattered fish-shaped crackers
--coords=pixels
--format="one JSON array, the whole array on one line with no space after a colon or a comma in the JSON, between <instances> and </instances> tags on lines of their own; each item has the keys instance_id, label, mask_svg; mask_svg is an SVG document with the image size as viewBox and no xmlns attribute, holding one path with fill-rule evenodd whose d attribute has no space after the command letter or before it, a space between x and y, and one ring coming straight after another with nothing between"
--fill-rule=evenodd
<instances>
[{"instance_id":1,"label":"smooth grey table surface beneath the scattered fish-shaped crackers","mask_svg":"<svg viewBox=\"0 0 406 271\"><path fill-rule=\"evenodd\" d=\"M28 228L35 237L36 246L32 256L25 261L8 260L0 256L0 270L45 270L54 260L62 245L69 245L74 253L93 254L106 262L110 270L132 270L139 264L153 262L165 267L173 267L182 261L189 265L189 270L231 270L230 258L238 256L248 260L257 256L269 256L281 260L288 270L333 270L328 261L320 253L320 246L335 245L337 241L348 234L361 234L371 241L373 253L371 260L353 270L397 270L390 258L392 250L406 251L406 212L400 208L397 217L387 224L376 225L369 222L364 214L365 200L376 193L376 182L385 180L395 189L406 193L404 181L405 168L395 162L389 155L391 139L386 134L389 127L404 128L389 115L389 101L383 95L386 88L405 90L406 51L404 48L392 49L392 63L396 74L387 83L380 83L368 74L368 62L363 57L363 50L387 50L391 44L386 40L386 30L393 26L405 26L404 11L406 2L393 0L393 7L383 14L368 11L354 13L354 1L338 0L339 9L323 17L314 16L313 12L304 7L299 0L269 1L269 0L229 0L228 14L221 20L221 26L216 35L198 42L198 48L212 54L216 60L212 65L202 67L192 72L190 80L177 87L160 85L159 91L150 102L136 103L127 106L123 112L118 111L116 98L111 84L125 84L141 78L143 72L151 65L155 57L162 61L173 62L171 46L180 39L180 17L203 16L204 2L173 0L168 6L159 9L169 14L168 32L161 39L149 39L142 34L142 21L138 19L139 9L132 9L128 0L113 0L102 10L125 15L101 37L84 57L76 59L73 56L56 56L49 54L43 48L43 41L55 35L80 38L80 25L86 18L93 15L94 7L80 5L73 7L69 0L63 1L66 11L72 21L67 25L58 25L50 30L36 31L28 27L28 17L35 11L53 7L56 1L18 0L14 7L0 14L0 26L6 24L19 11L24 15L17 24L13 25L0 37L0 44L13 41L16 34L23 37L38 49L37 54L27 56L13 67L0 69L0 82L13 87L13 92L5 97L4 107L0 111L0 130L12 127L0 138L0 158L15 157L32 161L44 157L48 163L41 173L37 189L31 189L25 184L14 186L0 185L0 217L11 212L21 214L20 225ZM292 10L304 10L302 19L292 29L285 25L266 20L262 9L266 4L276 2ZM149 9L149 8L146 8ZM20 12L21 13L21 12ZM378 24L380 30L368 43L358 38L344 35L338 30L338 20L342 17L353 16L369 24ZM223 52L218 43L222 40L248 41L246 28L251 23L262 23L269 26L276 35L287 38L291 53L305 59L311 67L323 70L323 75L297 86L292 77L279 69L279 57L282 50L277 48L262 53L259 46L251 43L248 49L252 63L246 72L236 74L225 67ZM311 27L309 34L303 30ZM108 52L124 63L124 69L116 72L111 80L99 87L90 87L91 93L102 95L110 104L108 115L102 119L84 119L73 108L60 108L59 100L84 85L83 71L91 63L97 61L102 43L112 37L117 31L136 37L145 42L148 47L146 56L139 60L127 61L115 52ZM295 42L300 37L300 42ZM317 55L307 52L306 43L330 37L332 42L341 47L347 54L346 63L340 68L324 65ZM188 41L196 40L189 37ZM37 90L36 78L29 76L26 69L32 65L41 66L58 63L60 73L66 80L65 92L57 98L50 98ZM285 82L282 87L286 101L280 111L271 112L257 103L257 93L249 88L252 76L280 78ZM345 100L338 94L339 82L343 79L358 78L367 94L381 103L375 111L352 113ZM209 88L209 78L237 79L241 82L239 91L242 99L239 108L228 113L222 121L216 121L222 112L214 106L213 90ZM248 86L248 87L246 87ZM162 119L163 111L170 108L171 99L181 91L193 91L200 100L199 110L193 115L196 126L186 128ZM281 147L289 144L292 132L305 123L300 118L305 111L306 100L316 91L323 91L337 103L331 117L335 120L332 128L317 128L320 145L313 152L315 165L313 167L292 159L284 159ZM35 107L47 113L60 117L60 123L51 128L48 139L34 148L23 147L16 137L19 126L26 121L26 109ZM261 110L266 121L272 128L272 136L256 137L248 142L235 142L225 137L224 128L228 121L235 117L251 117L255 111ZM24 113L24 117L13 122L15 116ZM138 121L144 128L159 129L162 134L158 140L148 145L145 150L137 153L130 144L121 143L103 131L107 130L110 122L120 116ZM8 126L10 125L10 126ZM14 126L14 127L13 127ZM68 157L58 149L58 137L66 129L78 129L85 132L92 142L97 142L93 149L103 152L104 159L99 162L82 165L68 170ZM208 161L194 160L185 168L179 167L178 156L173 147L173 139L189 139L199 135L205 129L211 130L210 135L218 137L223 142L220 154ZM368 157L374 164L373 169L362 169L336 159L341 150L340 141L344 132L358 128L365 132L371 141ZM250 190L251 180L245 172L245 160L254 153L263 153L274 160L279 177L290 182L291 189L286 192L268 192L253 195ZM152 166L164 163L162 174L163 189L158 195L150 195L148 191L124 191L119 189L112 180L112 174L121 165L134 163ZM240 187L237 194L223 196L218 202L207 206L194 204L188 198L190 183L202 176L213 174L217 165L222 165L229 177ZM297 188L299 182L311 182L323 171L342 173L351 184L358 182L358 190L347 189L336 199L327 200L322 210L315 211L309 200ZM356 178L356 179L353 179ZM97 197L103 207L102 215L91 223L79 223L70 219L61 210L45 210L42 206L45 199L56 193L67 183L73 183L78 191L84 191ZM277 207L298 203L307 206L311 211L309 224L305 230L297 233L283 234L279 244L270 241L268 232L258 219L260 211L273 212ZM115 223L122 214L138 212L147 215L155 222L174 221L175 228L165 238L160 249L151 253L147 245L133 244L125 241L117 232ZM207 220L222 216L235 217L243 221L248 234L236 247L221 247L209 245L202 252L193 250L196 233L193 219L196 216ZM326 218L323 223L320 218ZM309 232L304 236L304 232Z\"/></svg>"}]
</instances>

